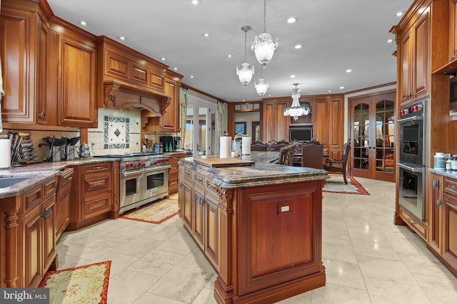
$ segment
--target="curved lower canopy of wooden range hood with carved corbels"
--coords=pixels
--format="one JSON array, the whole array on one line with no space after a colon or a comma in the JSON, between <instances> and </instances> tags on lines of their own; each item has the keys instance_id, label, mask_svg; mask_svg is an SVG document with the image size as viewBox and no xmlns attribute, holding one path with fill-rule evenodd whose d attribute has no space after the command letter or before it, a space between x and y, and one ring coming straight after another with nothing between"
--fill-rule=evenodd
<instances>
[{"instance_id":1,"label":"curved lower canopy of wooden range hood with carved corbels","mask_svg":"<svg viewBox=\"0 0 457 304\"><path fill-rule=\"evenodd\" d=\"M163 116L171 103L171 96L132 88L116 80L104 82L104 106L106 108L141 108L149 110L154 116Z\"/></svg>"}]
</instances>

